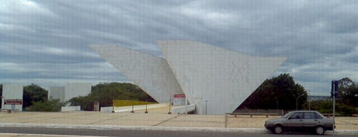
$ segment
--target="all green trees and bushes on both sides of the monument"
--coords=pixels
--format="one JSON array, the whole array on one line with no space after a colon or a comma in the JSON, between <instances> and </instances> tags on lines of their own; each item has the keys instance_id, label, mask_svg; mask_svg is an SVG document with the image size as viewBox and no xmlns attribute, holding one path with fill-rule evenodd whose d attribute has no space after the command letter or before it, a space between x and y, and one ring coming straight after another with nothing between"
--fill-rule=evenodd
<instances>
[{"instance_id":1,"label":"all green trees and bushes on both sides of the monument","mask_svg":"<svg viewBox=\"0 0 358 137\"><path fill-rule=\"evenodd\" d=\"M342 78L338 87L336 112L343 116L358 113L358 84L350 78ZM3 84L0 84L0 96L2 89ZM99 83L92 86L89 95L75 97L68 102L48 100L47 97L48 91L37 84L24 86L23 107L33 111L59 111L61 106L70 104L92 111L94 102L98 102L100 107L112 106L112 100L118 99L156 102L137 85L118 82ZM308 104L307 90L285 73L266 79L237 109L311 109L332 113L332 99L311 101Z\"/></svg>"}]
</instances>

